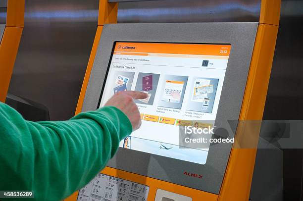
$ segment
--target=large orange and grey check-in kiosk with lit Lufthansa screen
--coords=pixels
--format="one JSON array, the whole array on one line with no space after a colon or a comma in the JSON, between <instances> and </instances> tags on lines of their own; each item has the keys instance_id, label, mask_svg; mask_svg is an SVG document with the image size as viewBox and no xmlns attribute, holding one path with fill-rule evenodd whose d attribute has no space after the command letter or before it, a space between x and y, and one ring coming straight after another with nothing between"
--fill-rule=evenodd
<instances>
[{"instance_id":1,"label":"large orange and grey check-in kiosk with lit Lufthansa screen","mask_svg":"<svg viewBox=\"0 0 303 201\"><path fill-rule=\"evenodd\" d=\"M77 113L119 91L148 98L136 101L141 128L66 201L248 201L259 127L238 124L234 144L182 149L179 124L262 119L280 3L262 0L258 22L115 24L117 4L101 0Z\"/></svg>"}]
</instances>

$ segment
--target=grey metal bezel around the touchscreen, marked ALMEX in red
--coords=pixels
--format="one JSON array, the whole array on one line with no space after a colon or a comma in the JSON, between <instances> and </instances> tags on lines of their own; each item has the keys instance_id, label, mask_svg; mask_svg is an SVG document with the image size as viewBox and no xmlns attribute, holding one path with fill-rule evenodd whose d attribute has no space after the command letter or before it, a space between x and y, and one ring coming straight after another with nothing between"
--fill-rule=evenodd
<instances>
[{"instance_id":1,"label":"grey metal bezel around the touchscreen, marked ALMEX in red","mask_svg":"<svg viewBox=\"0 0 303 201\"><path fill-rule=\"evenodd\" d=\"M257 25L258 23L107 24L103 28L82 111L98 107L115 41L231 44L215 123L216 128L228 130L227 119L239 118ZM230 101L231 97L233 101ZM200 165L120 148L108 166L218 194L230 149L231 144L228 143L211 146L206 164ZM193 182L183 175L184 171L204 177Z\"/></svg>"}]
</instances>

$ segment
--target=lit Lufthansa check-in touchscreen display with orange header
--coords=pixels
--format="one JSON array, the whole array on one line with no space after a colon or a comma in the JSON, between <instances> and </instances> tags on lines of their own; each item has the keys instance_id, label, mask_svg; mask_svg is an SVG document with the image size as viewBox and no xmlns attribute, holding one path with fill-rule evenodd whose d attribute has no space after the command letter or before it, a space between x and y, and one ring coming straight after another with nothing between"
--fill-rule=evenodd
<instances>
[{"instance_id":1,"label":"lit Lufthansa check-in touchscreen display with orange header","mask_svg":"<svg viewBox=\"0 0 303 201\"><path fill-rule=\"evenodd\" d=\"M142 126L120 147L205 164L208 149L180 149L179 123L215 120L231 45L116 42L100 107L115 93L136 100Z\"/></svg>"}]
</instances>

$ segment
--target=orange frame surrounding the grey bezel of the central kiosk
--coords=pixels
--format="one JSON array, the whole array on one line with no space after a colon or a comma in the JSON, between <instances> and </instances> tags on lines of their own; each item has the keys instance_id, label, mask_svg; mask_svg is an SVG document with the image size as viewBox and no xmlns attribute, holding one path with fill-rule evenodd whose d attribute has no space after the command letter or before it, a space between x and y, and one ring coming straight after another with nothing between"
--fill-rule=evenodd
<instances>
[{"instance_id":1,"label":"orange frame surrounding the grey bezel of the central kiosk","mask_svg":"<svg viewBox=\"0 0 303 201\"><path fill-rule=\"evenodd\" d=\"M253 56L239 120L262 119L278 33L280 6L281 0L261 1L259 25L257 27ZM98 29L83 81L76 114L81 112L82 109L103 25L105 23L116 23L117 8L117 3L108 3L107 0L100 0ZM243 135L247 131L251 135L247 137L246 133L244 138ZM165 189L176 194L188 196L194 201L248 201L253 178L258 134L259 127L255 127L252 130L246 128L246 126L238 126L236 141L241 146L246 143L250 143L250 146L253 144L254 146L251 146L252 149L237 149L239 144L233 145L218 195L110 167L105 167L101 173L149 186L148 201L154 201L157 189ZM76 201L77 196L78 192L75 192L65 201Z\"/></svg>"}]
</instances>

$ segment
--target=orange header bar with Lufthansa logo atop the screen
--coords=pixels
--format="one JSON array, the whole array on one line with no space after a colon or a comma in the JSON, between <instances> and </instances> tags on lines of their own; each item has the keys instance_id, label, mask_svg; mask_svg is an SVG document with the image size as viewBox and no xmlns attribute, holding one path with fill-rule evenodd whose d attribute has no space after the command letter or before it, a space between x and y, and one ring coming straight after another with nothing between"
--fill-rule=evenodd
<instances>
[{"instance_id":1,"label":"orange header bar with Lufthansa logo atop the screen","mask_svg":"<svg viewBox=\"0 0 303 201\"><path fill-rule=\"evenodd\" d=\"M121 43L117 42L114 54L165 53L229 56L231 45L172 44L172 43Z\"/></svg>"}]
</instances>

